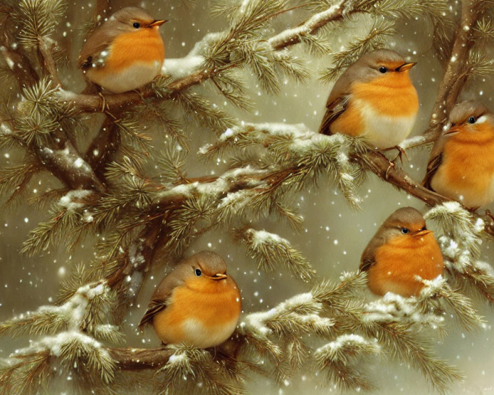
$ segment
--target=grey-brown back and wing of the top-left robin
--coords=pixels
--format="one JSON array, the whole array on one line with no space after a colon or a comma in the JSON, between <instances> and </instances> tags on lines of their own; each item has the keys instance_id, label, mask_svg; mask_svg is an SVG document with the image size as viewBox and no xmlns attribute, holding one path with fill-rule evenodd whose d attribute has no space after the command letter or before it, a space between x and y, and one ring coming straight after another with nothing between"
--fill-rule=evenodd
<instances>
[{"instance_id":1,"label":"grey-brown back and wing of the top-left robin","mask_svg":"<svg viewBox=\"0 0 494 395\"><path fill-rule=\"evenodd\" d=\"M91 33L81 49L81 54L77 59L77 65L81 69L87 69L93 64L98 65L101 52L108 50L112 41L121 34L119 26L112 21L107 21Z\"/></svg>"}]
</instances>

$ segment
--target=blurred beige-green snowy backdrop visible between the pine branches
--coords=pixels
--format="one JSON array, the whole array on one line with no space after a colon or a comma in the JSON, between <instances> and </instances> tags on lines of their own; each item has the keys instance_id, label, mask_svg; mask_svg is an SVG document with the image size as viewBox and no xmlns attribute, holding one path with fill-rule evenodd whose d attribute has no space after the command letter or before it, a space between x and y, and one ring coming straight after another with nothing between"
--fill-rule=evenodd
<instances>
[{"instance_id":1,"label":"blurred beige-green snowy backdrop visible between the pine branches","mask_svg":"<svg viewBox=\"0 0 494 395\"><path fill-rule=\"evenodd\" d=\"M156 18L169 19L170 22L165 24L161 30L165 40L166 56L170 58L185 56L194 43L206 33L216 32L225 27L223 20L209 17L206 0L198 1L194 8L184 6L180 0L115 0L114 4L115 9L125 5L141 5L150 10ZM92 16L91 5L90 1L71 2L66 21L60 25L59 39L70 49L72 61L76 59L82 43L77 27ZM278 32L285 27L295 25L301 21L301 18L299 11L291 12L275 24L275 31ZM353 24L346 24L345 33L341 29L331 31L329 36L335 50L340 49L348 37L359 34L359 29L363 25L362 20L354 19ZM434 60L430 49L430 33L424 21L400 22L398 34L388 41L388 47L409 56L407 59L418 62L412 70L412 79L419 94L421 107L412 135L425 129L441 77L441 68ZM292 50L300 56L309 58L300 48ZM321 83L317 75L329 65L329 57L321 60L311 59L310 66L315 77L307 85L288 81L287 84L283 84L282 91L277 97L266 94L258 96L255 81L250 79L250 92L255 100L255 108L250 114L239 111L235 111L235 114L241 119L253 122L303 122L312 130L317 130L331 88L329 84ZM68 89L80 91L84 85L81 73L74 68L65 70L62 77ZM8 94L8 89L8 85L3 89L0 87L0 93ZM494 108L491 103L492 81L477 81L475 84L470 84L465 91L467 93L464 94L464 98L480 98L488 106ZM206 92L210 94L212 90L207 89ZM223 105L224 100L221 97L215 94L210 97L218 105ZM88 124L94 124L94 121L88 120ZM211 171L219 174L221 168L215 163L208 164L205 171L204 165L198 166L193 158L198 147L205 142L214 141L212 132L192 128L189 130L189 135L192 138L192 155L188 161L189 175L200 176L209 174ZM154 146L157 149L165 144L162 135L156 134L153 137ZM410 161L405 162L405 169L415 179L423 177L427 154L426 151L412 150L409 152ZM19 158L22 158L19 152L0 152L0 165L16 164ZM50 185L56 186L57 184L47 174L43 174L33 180L31 191L34 189L40 191ZM376 226L380 225L394 209L411 205L419 210L425 210L420 201L396 191L371 174L369 180L359 189L359 193L364 200L363 209L355 212L348 207L344 198L335 190L331 180L323 176L317 188L306 190L295 197L295 202L305 217L303 232L294 234L289 227L277 222L274 218L262 223L253 223L252 226L288 238L308 257L321 278L337 280L342 271L353 271L358 268L360 254L375 232ZM64 253L63 246L58 251L46 253L42 257L29 258L21 255L19 249L29 230L38 221L46 218L45 213L34 211L24 204L18 205L14 210L9 209L0 213L0 320L35 310L42 304L48 304L57 294L59 280L67 276L72 265L78 262L88 262L91 259L93 240L85 240L81 248L72 256ZM267 275L258 273L255 263L246 257L242 247L230 242L226 232L218 231L207 234L191 246L188 254L206 248L220 253L227 260L230 274L234 275L241 287L245 313L269 309L291 295L306 291L304 284L290 278L288 271L284 269ZM491 262L492 246L485 243L484 250L483 259ZM154 270L153 278L148 279L141 292L139 305L130 310L124 322L127 346L154 347L159 345L152 330L149 329L141 335L136 331L136 324L145 311L153 287L158 284L165 270L166 262L160 262ZM437 345L438 354L457 364L467 375L464 383L454 385L453 394L494 394L491 327L494 315L492 309L484 301L477 301L476 306L489 321L486 329L479 329L475 334L464 334L461 328L455 327L452 323L452 330L444 344ZM0 338L0 356L6 356L16 347L26 345L27 340L27 337L14 341ZM386 358L374 359L372 363L374 363L372 375L380 387L376 392L378 394L426 394L430 391L425 379L407 366L401 366L393 361L388 363ZM263 394L294 395L339 393L339 390L335 388L319 388L313 373L308 372L304 378L304 380L278 389L265 378L252 376L248 384L249 394L258 394L261 391Z\"/></svg>"}]
</instances>

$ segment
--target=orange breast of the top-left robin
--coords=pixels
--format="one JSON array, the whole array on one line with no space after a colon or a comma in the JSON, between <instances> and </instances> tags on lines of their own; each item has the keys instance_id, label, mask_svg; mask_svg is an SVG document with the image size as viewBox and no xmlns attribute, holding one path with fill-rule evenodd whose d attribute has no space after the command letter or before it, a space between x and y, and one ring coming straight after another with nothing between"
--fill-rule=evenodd
<instances>
[{"instance_id":1,"label":"orange breast of the top-left robin","mask_svg":"<svg viewBox=\"0 0 494 395\"><path fill-rule=\"evenodd\" d=\"M110 72L118 72L134 62L161 64L165 60L165 46L157 28L121 34L109 50L105 69Z\"/></svg>"}]
</instances>

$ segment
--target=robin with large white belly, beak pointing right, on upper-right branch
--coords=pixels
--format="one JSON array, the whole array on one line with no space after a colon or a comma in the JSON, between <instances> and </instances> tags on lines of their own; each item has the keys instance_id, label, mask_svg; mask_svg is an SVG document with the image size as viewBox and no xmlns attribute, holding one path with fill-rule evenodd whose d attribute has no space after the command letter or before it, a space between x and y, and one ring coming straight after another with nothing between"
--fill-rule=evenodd
<instances>
[{"instance_id":1,"label":"robin with large white belly, beak pointing right, on upper-right branch","mask_svg":"<svg viewBox=\"0 0 494 395\"><path fill-rule=\"evenodd\" d=\"M319 132L362 136L375 149L397 147L418 112L409 76L414 65L389 49L362 56L334 84Z\"/></svg>"}]
</instances>

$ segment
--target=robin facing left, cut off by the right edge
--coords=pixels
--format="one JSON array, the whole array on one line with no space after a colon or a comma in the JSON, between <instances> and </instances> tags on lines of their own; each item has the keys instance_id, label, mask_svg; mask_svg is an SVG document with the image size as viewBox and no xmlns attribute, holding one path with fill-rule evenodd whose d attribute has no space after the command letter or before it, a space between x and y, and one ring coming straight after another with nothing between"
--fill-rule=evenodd
<instances>
[{"instance_id":1,"label":"robin facing left, cut off by the right edge","mask_svg":"<svg viewBox=\"0 0 494 395\"><path fill-rule=\"evenodd\" d=\"M478 101L453 107L422 184L476 210L494 200L494 115Z\"/></svg>"}]
</instances>

